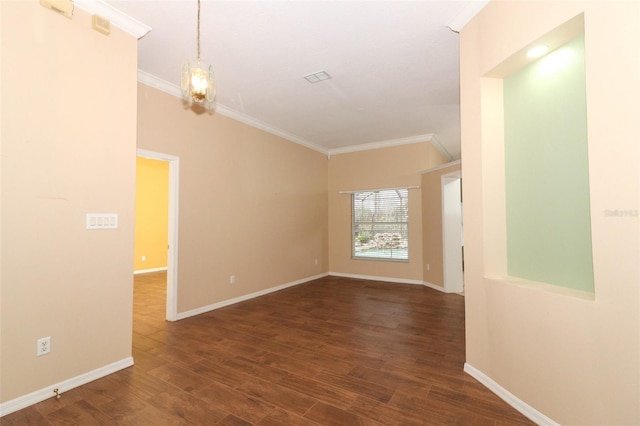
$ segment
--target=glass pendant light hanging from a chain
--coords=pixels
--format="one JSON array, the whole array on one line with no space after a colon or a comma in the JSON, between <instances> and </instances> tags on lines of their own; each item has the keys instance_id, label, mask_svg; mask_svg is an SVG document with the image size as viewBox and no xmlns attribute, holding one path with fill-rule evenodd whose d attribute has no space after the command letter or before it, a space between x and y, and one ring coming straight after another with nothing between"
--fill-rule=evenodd
<instances>
[{"instance_id":1,"label":"glass pendant light hanging from a chain","mask_svg":"<svg viewBox=\"0 0 640 426\"><path fill-rule=\"evenodd\" d=\"M213 110L213 101L216 97L215 77L213 68L205 70L200 65L200 0L198 0L198 61L191 66L185 61L182 67L182 97L188 102L195 102L208 110Z\"/></svg>"}]
</instances>

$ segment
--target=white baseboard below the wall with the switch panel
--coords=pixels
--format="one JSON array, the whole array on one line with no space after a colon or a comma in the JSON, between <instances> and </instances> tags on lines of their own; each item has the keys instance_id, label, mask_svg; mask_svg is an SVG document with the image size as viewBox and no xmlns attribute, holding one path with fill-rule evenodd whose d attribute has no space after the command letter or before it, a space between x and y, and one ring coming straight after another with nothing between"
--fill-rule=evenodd
<instances>
[{"instance_id":1,"label":"white baseboard below the wall with the switch panel","mask_svg":"<svg viewBox=\"0 0 640 426\"><path fill-rule=\"evenodd\" d=\"M72 377L71 379L55 383L51 386L47 386L35 392L31 392L30 394L23 395L16 399L4 402L0 404L0 417L18 410L22 410L23 408L27 408L30 405L37 404L38 402L42 402L45 399L54 397L54 389L58 389L58 393L63 394L68 390L100 379L101 377L107 376L111 373L115 373L116 371L122 370L124 368L131 367L132 365L133 358L128 357L123 360L116 361L112 364L105 365L104 367L97 368L93 371L89 371L79 376Z\"/></svg>"}]
</instances>

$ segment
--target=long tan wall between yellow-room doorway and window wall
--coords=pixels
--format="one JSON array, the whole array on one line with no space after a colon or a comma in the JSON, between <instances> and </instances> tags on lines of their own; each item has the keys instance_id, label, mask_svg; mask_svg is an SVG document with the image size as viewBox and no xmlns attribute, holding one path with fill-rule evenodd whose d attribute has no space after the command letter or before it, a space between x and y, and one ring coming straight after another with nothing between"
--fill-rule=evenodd
<instances>
[{"instance_id":1,"label":"long tan wall between yellow-room doorway and window wall","mask_svg":"<svg viewBox=\"0 0 640 426\"><path fill-rule=\"evenodd\" d=\"M178 313L328 271L324 154L138 90L138 148L180 159Z\"/></svg>"}]
</instances>

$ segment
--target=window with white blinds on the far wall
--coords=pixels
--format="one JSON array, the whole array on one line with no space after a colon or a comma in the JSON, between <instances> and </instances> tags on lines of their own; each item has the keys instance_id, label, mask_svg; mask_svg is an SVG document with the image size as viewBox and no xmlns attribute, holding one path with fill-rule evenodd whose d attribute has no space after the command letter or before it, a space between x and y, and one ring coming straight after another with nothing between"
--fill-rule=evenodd
<instances>
[{"instance_id":1,"label":"window with white blinds on the far wall","mask_svg":"<svg viewBox=\"0 0 640 426\"><path fill-rule=\"evenodd\" d=\"M409 259L408 201L407 189L351 195L354 259Z\"/></svg>"}]
</instances>

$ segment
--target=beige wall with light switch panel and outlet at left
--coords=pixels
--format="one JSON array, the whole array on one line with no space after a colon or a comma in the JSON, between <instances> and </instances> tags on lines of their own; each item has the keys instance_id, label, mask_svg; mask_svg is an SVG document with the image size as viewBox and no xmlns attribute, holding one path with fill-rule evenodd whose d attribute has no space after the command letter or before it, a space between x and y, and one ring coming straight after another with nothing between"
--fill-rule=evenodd
<instances>
[{"instance_id":1,"label":"beige wall with light switch panel and outlet at left","mask_svg":"<svg viewBox=\"0 0 640 426\"><path fill-rule=\"evenodd\" d=\"M131 356L137 41L77 8L0 11L6 402ZM119 228L86 230L86 213Z\"/></svg>"}]
</instances>

